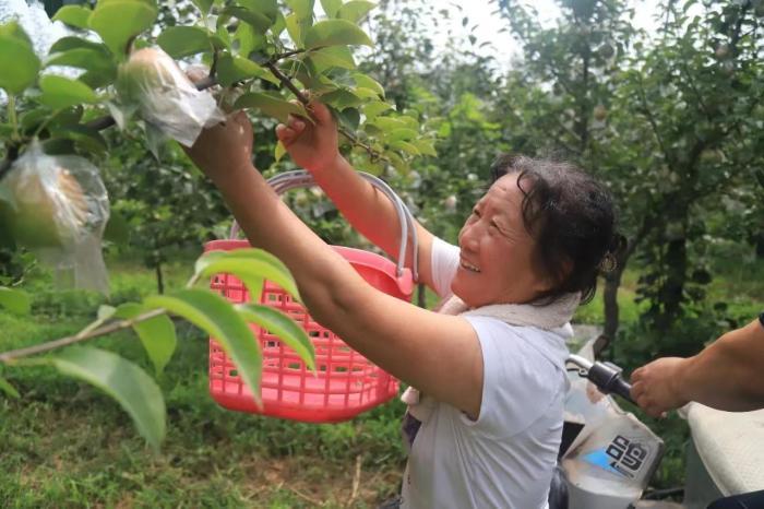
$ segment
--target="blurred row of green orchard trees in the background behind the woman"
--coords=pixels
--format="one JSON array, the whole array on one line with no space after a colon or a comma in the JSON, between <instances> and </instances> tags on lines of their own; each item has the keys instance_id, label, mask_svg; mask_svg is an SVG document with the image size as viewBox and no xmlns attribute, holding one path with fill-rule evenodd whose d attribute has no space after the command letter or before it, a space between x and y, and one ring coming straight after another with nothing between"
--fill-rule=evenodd
<instances>
[{"instance_id":1,"label":"blurred row of green orchard trees in the background behind the woman","mask_svg":"<svg viewBox=\"0 0 764 509\"><path fill-rule=\"evenodd\" d=\"M670 0L650 33L634 26L633 1L558 4L560 16L546 22L529 2L492 0L493 15L518 43L506 70L485 56L489 43L478 40L468 12L380 1L365 22L377 46L357 52L359 70L383 84L401 114L439 135L437 156L385 178L453 240L499 153L577 163L607 182L628 238L618 268L604 277L605 334L617 336L616 297L630 267L640 274L640 327L655 338L644 342L644 356L697 350L719 319L735 318L707 298L715 242L764 256L764 0ZM164 5L159 22L171 26L190 12L188 2ZM493 45L505 60L512 48ZM290 163L274 164L272 128L271 120L256 128L258 165L278 171ZM157 161L130 135L111 145L118 153L110 164L134 168L106 171L118 217L111 229L128 233L128 245L145 252L159 277L168 250L222 235L226 210L179 151ZM320 200L289 198L327 240L357 241ZM0 276L19 277L23 263L9 253L0 251ZM668 336L685 339L661 340Z\"/></svg>"}]
</instances>

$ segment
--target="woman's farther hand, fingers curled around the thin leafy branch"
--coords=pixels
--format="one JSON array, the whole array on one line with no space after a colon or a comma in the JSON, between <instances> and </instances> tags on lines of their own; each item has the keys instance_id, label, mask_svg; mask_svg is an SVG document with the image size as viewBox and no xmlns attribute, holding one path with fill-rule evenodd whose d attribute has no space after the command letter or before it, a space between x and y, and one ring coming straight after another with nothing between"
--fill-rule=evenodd
<instances>
[{"instance_id":1,"label":"woman's farther hand, fingers curled around the thin leafy branch","mask_svg":"<svg viewBox=\"0 0 764 509\"><path fill-rule=\"evenodd\" d=\"M276 127L276 137L284 144L291 159L311 173L331 168L339 157L337 150L337 126L332 113L321 103L312 102L311 123L305 118L289 116L287 125Z\"/></svg>"}]
</instances>

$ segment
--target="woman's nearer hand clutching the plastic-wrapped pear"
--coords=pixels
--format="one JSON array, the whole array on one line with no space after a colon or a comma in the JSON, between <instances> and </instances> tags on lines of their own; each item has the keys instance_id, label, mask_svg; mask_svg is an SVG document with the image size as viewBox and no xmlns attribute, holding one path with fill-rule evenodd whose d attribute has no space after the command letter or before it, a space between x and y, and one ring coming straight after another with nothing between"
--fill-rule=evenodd
<instances>
[{"instance_id":1,"label":"woman's nearer hand clutching the plastic-wrapped pear","mask_svg":"<svg viewBox=\"0 0 764 509\"><path fill-rule=\"evenodd\" d=\"M184 149L199 168L213 181L252 168L252 125L243 111L204 129L191 149Z\"/></svg>"}]
</instances>

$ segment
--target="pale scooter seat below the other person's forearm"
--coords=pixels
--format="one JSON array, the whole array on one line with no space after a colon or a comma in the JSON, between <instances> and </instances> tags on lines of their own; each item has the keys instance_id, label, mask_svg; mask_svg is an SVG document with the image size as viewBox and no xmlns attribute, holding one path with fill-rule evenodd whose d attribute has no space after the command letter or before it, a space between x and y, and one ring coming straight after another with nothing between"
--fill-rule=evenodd
<instances>
[{"instance_id":1,"label":"pale scooter seat below the other person's forearm","mask_svg":"<svg viewBox=\"0 0 764 509\"><path fill-rule=\"evenodd\" d=\"M724 495L764 489L764 410L721 412L690 403L684 411L697 453Z\"/></svg>"}]
</instances>

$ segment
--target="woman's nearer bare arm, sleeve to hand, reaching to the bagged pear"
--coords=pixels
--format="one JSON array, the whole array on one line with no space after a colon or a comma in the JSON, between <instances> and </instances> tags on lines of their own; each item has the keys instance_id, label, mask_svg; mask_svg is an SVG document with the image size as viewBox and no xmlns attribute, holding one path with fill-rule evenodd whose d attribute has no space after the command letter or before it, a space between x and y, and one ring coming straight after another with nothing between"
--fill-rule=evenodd
<instances>
[{"instance_id":1,"label":"woman's nearer bare arm, sleeve to hand, reaching to the bagged pear","mask_svg":"<svg viewBox=\"0 0 764 509\"><path fill-rule=\"evenodd\" d=\"M250 242L284 261L320 323L395 377L470 416L479 415L482 356L471 325L367 284L251 165L250 129L239 114L225 126L205 130L189 151L220 189Z\"/></svg>"}]
</instances>

